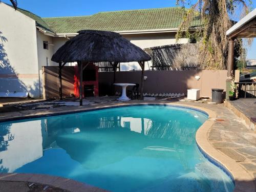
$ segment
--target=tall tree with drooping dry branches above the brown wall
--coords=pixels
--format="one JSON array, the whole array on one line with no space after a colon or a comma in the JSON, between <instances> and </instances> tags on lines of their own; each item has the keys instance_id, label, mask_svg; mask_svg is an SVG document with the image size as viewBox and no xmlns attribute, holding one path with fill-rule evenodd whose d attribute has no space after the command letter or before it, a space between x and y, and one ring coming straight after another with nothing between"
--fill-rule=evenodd
<instances>
[{"instance_id":1,"label":"tall tree with drooping dry branches above the brown wall","mask_svg":"<svg viewBox=\"0 0 256 192\"><path fill-rule=\"evenodd\" d=\"M176 37L185 35L199 39L199 62L203 69L226 69L228 55L226 31L234 24L233 17L242 17L249 12L251 0L196 0L195 4L192 0L176 0L176 2L177 5L182 5L183 9L185 5L191 6L185 11ZM191 23L196 17L200 17L202 26L191 30ZM235 46L243 50L241 40L237 40Z\"/></svg>"}]
</instances>

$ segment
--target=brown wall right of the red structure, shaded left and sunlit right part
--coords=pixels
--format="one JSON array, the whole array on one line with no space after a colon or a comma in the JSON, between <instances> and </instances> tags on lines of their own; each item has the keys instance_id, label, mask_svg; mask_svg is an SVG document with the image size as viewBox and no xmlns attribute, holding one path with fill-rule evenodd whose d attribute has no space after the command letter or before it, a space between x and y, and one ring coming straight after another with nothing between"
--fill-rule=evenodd
<instances>
[{"instance_id":1,"label":"brown wall right of the red structure, shaded left and sunlit right part","mask_svg":"<svg viewBox=\"0 0 256 192\"><path fill-rule=\"evenodd\" d=\"M100 72L99 83L112 82L113 75L113 72ZM195 79L197 75L201 77L199 81ZM226 90L227 70L145 71L145 76L144 93L186 94L187 89L193 88L200 89L201 96L211 97L211 88ZM140 78L140 71L121 71L116 74L116 82L120 83L140 83Z\"/></svg>"}]
</instances>

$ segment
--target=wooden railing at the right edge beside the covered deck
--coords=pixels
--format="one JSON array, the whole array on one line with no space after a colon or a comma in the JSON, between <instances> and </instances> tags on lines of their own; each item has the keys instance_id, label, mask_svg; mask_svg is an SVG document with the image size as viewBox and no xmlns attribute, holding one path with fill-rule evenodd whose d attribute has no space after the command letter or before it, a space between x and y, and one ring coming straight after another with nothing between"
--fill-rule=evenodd
<instances>
[{"instance_id":1,"label":"wooden railing at the right edge beside the covered deck","mask_svg":"<svg viewBox=\"0 0 256 192\"><path fill-rule=\"evenodd\" d=\"M239 98L256 97L256 82L238 82L237 84Z\"/></svg>"}]
</instances>

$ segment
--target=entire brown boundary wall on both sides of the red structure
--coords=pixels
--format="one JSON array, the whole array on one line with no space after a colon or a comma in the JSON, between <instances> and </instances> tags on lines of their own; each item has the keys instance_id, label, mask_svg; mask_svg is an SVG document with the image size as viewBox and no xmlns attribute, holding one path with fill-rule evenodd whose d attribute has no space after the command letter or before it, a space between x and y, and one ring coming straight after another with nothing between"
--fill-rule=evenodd
<instances>
[{"instance_id":1,"label":"entire brown boundary wall on both sides of the red structure","mask_svg":"<svg viewBox=\"0 0 256 192\"><path fill-rule=\"evenodd\" d=\"M44 98L58 98L58 67L44 67ZM195 76L201 77L199 81ZM227 70L189 71L145 71L144 93L187 93L187 89L200 89L200 95L211 97L211 89L226 90ZM99 72L99 85L113 82L113 72ZM141 71L121 71L116 73L116 82L140 83ZM102 87L100 86L99 89ZM127 88L127 89L131 89ZM115 90L121 92L120 87ZM101 90L99 90L101 92ZM74 93L74 67L62 69L62 94Z\"/></svg>"}]
</instances>

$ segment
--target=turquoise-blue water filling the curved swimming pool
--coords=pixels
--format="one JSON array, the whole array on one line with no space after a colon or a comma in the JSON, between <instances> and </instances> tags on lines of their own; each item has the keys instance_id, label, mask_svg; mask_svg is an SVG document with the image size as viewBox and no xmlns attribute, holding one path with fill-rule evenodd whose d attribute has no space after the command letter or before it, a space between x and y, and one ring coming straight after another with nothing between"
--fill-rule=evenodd
<instances>
[{"instance_id":1,"label":"turquoise-blue water filling the curved swimming pool","mask_svg":"<svg viewBox=\"0 0 256 192\"><path fill-rule=\"evenodd\" d=\"M126 106L0 123L0 172L71 178L111 191L232 191L198 150L207 115Z\"/></svg>"}]
</instances>

